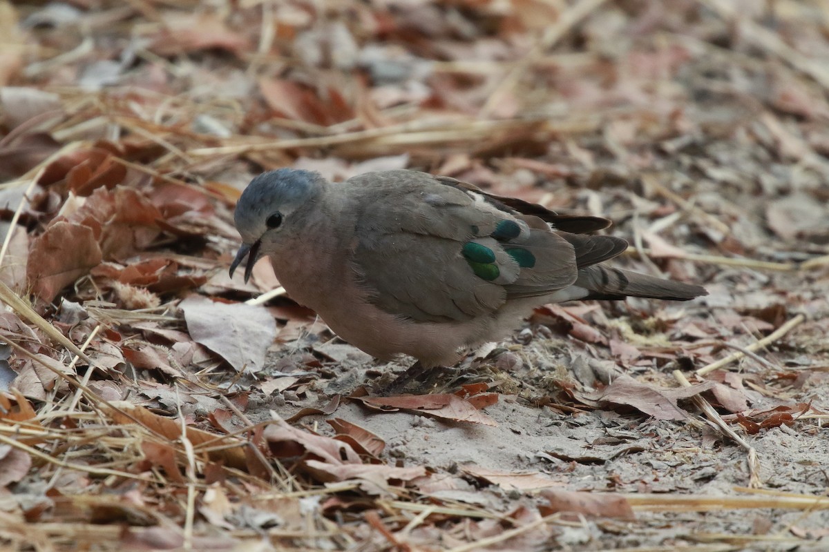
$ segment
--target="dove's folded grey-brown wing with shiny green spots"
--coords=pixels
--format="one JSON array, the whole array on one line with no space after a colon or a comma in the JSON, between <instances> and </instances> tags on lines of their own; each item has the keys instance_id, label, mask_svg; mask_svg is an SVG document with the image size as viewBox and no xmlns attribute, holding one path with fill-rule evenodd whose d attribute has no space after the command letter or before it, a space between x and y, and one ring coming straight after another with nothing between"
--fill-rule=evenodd
<instances>
[{"instance_id":1,"label":"dove's folded grey-brown wing with shiny green spots","mask_svg":"<svg viewBox=\"0 0 829 552\"><path fill-rule=\"evenodd\" d=\"M490 314L511 297L570 286L573 246L540 218L425 173L352 178L352 265L373 302L418 321Z\"/></svg>"}]
</instances>

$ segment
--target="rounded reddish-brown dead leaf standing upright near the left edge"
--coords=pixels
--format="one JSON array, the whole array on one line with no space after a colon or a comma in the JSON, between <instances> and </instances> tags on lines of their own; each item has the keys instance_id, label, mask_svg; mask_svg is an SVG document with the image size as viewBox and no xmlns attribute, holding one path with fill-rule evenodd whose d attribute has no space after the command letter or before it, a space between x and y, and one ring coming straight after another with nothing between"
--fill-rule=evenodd
<instances>
[{"instance_id":1,"label":"rounded reddish-brown dead leaf standing upright near the left edge","mask_svg":"<svg viewBox=\"0 0 829 552\"><path fill-rule=\"evenodd\" d=\"M65 286L88 274L102 260L91 228L57 222L32 242L27 279L35 295L51 302Z\"/></svg>"}]
</instances>

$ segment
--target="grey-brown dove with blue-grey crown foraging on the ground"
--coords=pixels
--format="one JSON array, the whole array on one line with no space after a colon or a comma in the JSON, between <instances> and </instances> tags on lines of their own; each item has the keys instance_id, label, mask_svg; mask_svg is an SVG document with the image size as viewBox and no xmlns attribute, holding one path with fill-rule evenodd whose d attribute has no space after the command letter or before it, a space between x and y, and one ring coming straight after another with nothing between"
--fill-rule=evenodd
<instances>
[{"instance_id":1,"label":"grey-brown dove with blue-grey crown foraging on the ground","mask_svg":"<svg viewBox=\"0 0 829 552\"><path fill-rule=\"evenodd\" d=\"M247 257L269 257L279 283L340 338L381 359L452 366L532 310L627 296L691 300L701 286L603 263L627 247L590 234L607 218L556 214L444 176L385 170L332 184L307 170L251 180L236 205Z\"/></svg>"}]
</instances>

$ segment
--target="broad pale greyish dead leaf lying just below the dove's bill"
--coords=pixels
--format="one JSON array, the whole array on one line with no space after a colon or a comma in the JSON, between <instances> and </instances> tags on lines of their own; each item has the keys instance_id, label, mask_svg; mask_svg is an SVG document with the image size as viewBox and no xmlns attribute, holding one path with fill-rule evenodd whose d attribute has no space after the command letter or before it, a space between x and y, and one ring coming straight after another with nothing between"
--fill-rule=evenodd
<instances>
[{"instance_id":1,"label":"broad pale greyish dead leaf lying just below the dove's bill","mask_svg":"<svg viewBox=\"0 0 829 552\"><path fill-rule=\"evenodd\" d=\"M264 307L220 303L200 295L191 295L178 306L191 338L224 358L236 372L264 367L265 352L276 338L276 322Z\"/></svg>"}]
</instances>

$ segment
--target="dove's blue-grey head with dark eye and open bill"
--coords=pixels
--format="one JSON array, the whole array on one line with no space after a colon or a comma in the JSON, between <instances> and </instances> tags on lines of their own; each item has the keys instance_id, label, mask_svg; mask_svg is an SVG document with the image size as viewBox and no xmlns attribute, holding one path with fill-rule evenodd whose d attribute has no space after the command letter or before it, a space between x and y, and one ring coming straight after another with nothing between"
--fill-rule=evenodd
<instances>
[{"instance_id":1,"label":"dove's blue-grey head with dark eye and open bill","mask_svg":"<svg viewBox=\"0 0 829 552\"><path fill-rule=\"evenodd\" d=\"M233 220L242 236L239 252L230 264L230 276L248 257L245 281L263 254L278 249L280 240L302 223L298 211L322 193L322 175L308 170L269 170L257 176L242 192Z\"/></svg>"}]
</instances>

